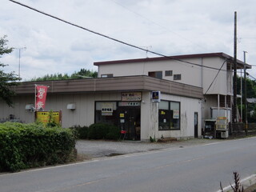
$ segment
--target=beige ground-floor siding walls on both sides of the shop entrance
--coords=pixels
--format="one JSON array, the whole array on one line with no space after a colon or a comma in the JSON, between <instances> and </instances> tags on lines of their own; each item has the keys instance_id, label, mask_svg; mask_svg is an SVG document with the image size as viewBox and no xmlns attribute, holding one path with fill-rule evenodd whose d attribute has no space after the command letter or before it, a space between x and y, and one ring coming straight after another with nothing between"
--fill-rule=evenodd
<instances>
[{"instance_id":1,"label":"beige ground-floor siding walls on both sides of the shop entrance","mask_svg":"<svg viewBox=\"0 0 256 192\"><path fill-rule=\"evenodd\" d=\"M198 112L198 120L201 118L201 105L198 99L162 94L162 99L181 102L181 130L158 131L158 103L151 102L150 91L142 92L141 102L141 140L152 138L186 138L194 137L194 112ZM74 125L90 126L94 123L94 103L97 101L121 101L120 92L104 94L49 94L46 98L47 110L62 110L62 127ZM9 118L14 114L15 118L22 122L34 122L34 113L25 110L27 104L34 104L34 97L21 95L14 99L14 108L8 107L0 101L0 117ZM67 105L75 103L75 110L67 110ZM198 121L198 135L201 135L201 125Z\"/></svg>"}]
</instances>

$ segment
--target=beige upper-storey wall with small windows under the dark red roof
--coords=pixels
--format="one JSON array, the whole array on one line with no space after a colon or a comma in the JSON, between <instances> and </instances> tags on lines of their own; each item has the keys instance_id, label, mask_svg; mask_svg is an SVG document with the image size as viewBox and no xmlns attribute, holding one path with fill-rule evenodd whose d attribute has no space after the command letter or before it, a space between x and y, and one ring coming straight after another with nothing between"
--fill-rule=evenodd
<instances>
[{"instance_id":1,"label":"beige upper-storey wall with small windows under the dark red roof","mask_svg":"<svg viewBox=\"0 0 256 192\"><path fill-rule=\"evenodd\" d=\"M148 75L148 72L150 71L162 71L162 78L174 81L174 75L165 76L166 70L173 70L173 74L182 74L182 79L178 81L175 80L175 82L182 82L187 85L202 87L203 94L205 94L210 84L214 81L215 76L218 74L218 70L209 69L202 66L220 69L223 62L225 62L225 59L218 57L186 58L182 60L196 63L200 66L191 65L176 60L106 64L98 66L98 77L101 77L102 74L113 74L114 77ZM226 62L222 66L222 70L219 72L218 78L215 79L213 85L210 87L210 90L207 91L207 94L228 94L227 87L232 87L232 75L227 76L227 72L224 70L226 70Z\"/></svg>"}]
</instances>

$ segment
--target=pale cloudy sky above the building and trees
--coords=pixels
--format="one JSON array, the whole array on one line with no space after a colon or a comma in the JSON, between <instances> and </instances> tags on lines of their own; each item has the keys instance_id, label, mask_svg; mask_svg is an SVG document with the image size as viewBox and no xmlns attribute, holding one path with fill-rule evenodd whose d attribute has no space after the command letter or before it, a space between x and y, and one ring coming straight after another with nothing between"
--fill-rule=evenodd
<instances>
[{"instance_id":1,"label":"pale cloudy sky above the building and trees","mask_svg":"<svg viewBox=\"0 0 256 192\"><path fill-rule=\"evenodd\" d=\"M153 58L9 0L0 0L0 37L14 51L0 62L22 81L46 74L73 74L94 62ZM255 0L17 0L78 26L168 56L223 52L234 55L237 11L238 59L256 65ZM24 49L26 47L26 49ZM20 53L20 54L19 54ZM20 64L20 68L19 68ZM256 78L256 66L248 72Z\"/></svg>"}]
</instances>

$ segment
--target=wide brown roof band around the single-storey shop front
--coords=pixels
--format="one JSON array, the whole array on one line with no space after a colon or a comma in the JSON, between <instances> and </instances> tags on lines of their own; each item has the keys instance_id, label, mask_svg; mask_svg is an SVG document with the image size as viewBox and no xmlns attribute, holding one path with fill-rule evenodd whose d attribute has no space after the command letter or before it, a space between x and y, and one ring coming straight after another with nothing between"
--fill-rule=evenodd
<instances>
[{"instance_id":1,"label":"wide brown roof band around the single-storey shop front","mask_svg":"<svg viewBox=\"0 0 256 192\"><path fill-rule=\"evenodd\" d=\"M202 98L202 88L190 86L180 82L171 82L164 79L151 78L144 75L73 79L46 82L21 82L14 86L16 94L34 94L34 85L50 86L48 94L79 94L122 91L152 91L174 94L189 98Z\"/></svg>"}]
</instances>

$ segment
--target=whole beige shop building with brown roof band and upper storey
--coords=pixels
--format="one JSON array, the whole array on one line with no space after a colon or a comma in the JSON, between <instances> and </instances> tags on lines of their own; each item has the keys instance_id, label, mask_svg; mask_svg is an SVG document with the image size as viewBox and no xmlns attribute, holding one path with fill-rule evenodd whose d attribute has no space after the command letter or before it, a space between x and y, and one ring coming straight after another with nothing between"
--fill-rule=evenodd
<instances>
[{"instance_id":1,"label":"whole beige shop building with brown roof band and upper storey","mask_svg":"<svg viewBox=\"0 0 256 192\"><path fill-rule=\"evenodd\" d=\"M210 107L231 106L232 58L226 54L94 65L98 66L98 78L15 86L14 108L0 101L0 119L12 115L23 122L34 122L34 113L27 106L34 105L35 84L50 86L46 110L61 110L63 127L106 122L126 130L126 138L135 140L196 138L202 135L203 119L210 118ZM250 68L240 61L238 65ZM160 102L153 97L159 93Z\"/></svg>"}]
</instances>

